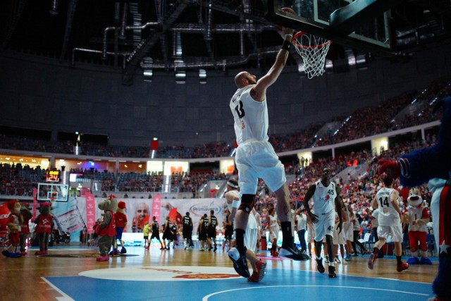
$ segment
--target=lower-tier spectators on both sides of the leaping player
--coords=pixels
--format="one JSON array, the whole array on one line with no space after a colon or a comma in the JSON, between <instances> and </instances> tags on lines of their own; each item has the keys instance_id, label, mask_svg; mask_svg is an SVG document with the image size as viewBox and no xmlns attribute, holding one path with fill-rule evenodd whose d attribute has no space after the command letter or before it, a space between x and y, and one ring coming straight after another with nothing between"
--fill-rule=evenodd
<instances>
[{"instance_id":1,"label":"lower-tier spectators on both sides of the leaping player","mask_svg":"<svg viewBox=\"0 0 451 301\"><path fill-rule=\"evenodd\" d=\"M404 153L411 152L419 147L427 147L434 140L421 142L404 142L386 150L381 157L395 159ZM348 174L346 178L340 178L338 174L348 166L367 166L364 173L357 176ZM288 176L293 176L296 171L295 180L289 183L290 201L297 207L302 207L302 201L309 186L319 179L323 168L328 167L331 171L332 180L341 188L341 197L344 202L351 204L356 212L359 223L361 223L361 235L371 231L371 200L377 190L381 188L382 180L378 175L378 164L369 150L352 152L347 155L335 157L335 159L319 159L307 166L285 166ZM118 173L114 175L109 172L98 172L96 170L71 169L71 173L79 173L82 177L101 180L101 190L106 193L116 192L160 192L163 184L162 173ZM211 170L197 170L191 173L175 172L171 175L171 186L175 192L192 192L193 197L199 188L204 187L211 180L228 180L236 174L219 173ZM30 168L21 164L0 165L0 195L8 197L31 196L33 188L45 178L45 170L42 168ZM400 190L400 183L395 181L395 188ZM431 194L427 185L420 187L424 199L429 200ZM266 214L268 204L276 204L276 196L268 190L263 180L259 180L255 207L261 215Z\"/></svg>"}]
</instances>

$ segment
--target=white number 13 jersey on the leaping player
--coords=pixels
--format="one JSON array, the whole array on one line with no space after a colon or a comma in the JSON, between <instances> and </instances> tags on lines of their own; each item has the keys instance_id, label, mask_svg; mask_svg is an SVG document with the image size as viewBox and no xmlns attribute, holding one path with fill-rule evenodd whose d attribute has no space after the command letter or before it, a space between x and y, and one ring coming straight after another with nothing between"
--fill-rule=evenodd
<instances>
[{"instance_id":1,"label":"white number 13 jersey on the leaping player","mask_svg":"<svg viewBox=\"0 0 451 301\"><path fill-rule=\"evenodd\" d=\"M257 102L250 96L254 85L247 85L235 92L230 100L230 110L235 120L235 135L240 145L249 139L268 141L268 106L266 99Z\"/></svg>"}]
</instances>

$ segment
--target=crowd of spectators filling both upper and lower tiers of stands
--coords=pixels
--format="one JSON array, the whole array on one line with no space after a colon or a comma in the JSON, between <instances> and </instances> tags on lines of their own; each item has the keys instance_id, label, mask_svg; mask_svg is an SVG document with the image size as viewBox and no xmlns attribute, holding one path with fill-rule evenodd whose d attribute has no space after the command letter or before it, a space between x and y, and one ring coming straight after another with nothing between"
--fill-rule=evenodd
<instances>
[{"instance_id":1,"label":"crowd of spectators filling both upper and lower tiers of stands","mask_svg":"<svg viewBox=\"0 0 451 301\"><path fill-rule=\"evenodd\" d=\"M271 135L270 142L276 152L285 152L295 149L304 149L312 146L330 145L338 142L355 140L360 137L387 133L391 130L407 128L421 123L438 120L432 116L431 111L437 99L451 94L451 81L438 80L426 90L421 92L409 92L387 99L378 106L358 109L347 118L341 118L338 130L323 131L319 137L317 133L323 128L324 123L309 125L306 129L288 135ZM404 113L410 104L416 104L415 110ZM334 120L335 122L337 119ZM381 156L395 159L413 149L433 145L437 139L435 135L427 133L424 141L404 142L398 145L390 145ZM230 156L235 147L234 142L210 142L197 147L170 146L158 149L160 158L218 158ZM0 134L0 149L21 149L32 152L51 152L56 154L72 154L73 143L69 141L54 142L47 140L35 140L25 137L17 137ZM98 145L91 142L82 144L82 154L107 157L149 157L149 149L143 147L115 147L111 145ZM347 166L368 166L366 171L358 176L339 178L337 175ZM305 164L304 164L305 163ZM295 180L289 183L290 199L293 204L301 206L303 197L309 185L319 178L324 167L328 167L332 173L332 179L342 188L341 196L345 202L352 204L352 208L359 216L362 233L371 230L371 199L380 188L379 178L374 164L371 150L352 152L347 155L337 156L334 159L318 159L317 161L302 162L299 166L287 165L287 175L295 175ZM29 197L37 183L44 182L45 170L37 166L22 164L0 164L0 195L8 197ZM162 173L111 173L97 170L72 169L71 173L80 173L82 177L97 180L101 183L101 190L106 192L160 192L164 177ZM195 197L199 188L211 180L228 180L230 175L213 170L192 170L190 173L175 172L171 175L171 192L192 192ZM400 188L395 182L395 188ZM422 195L427 200L430 198L427 185L420 188ZM255 206L257 211L265 214L269 203L276 204L276 197L270 192L263 180L259 180Z\"/></svg>"}]
</instances>

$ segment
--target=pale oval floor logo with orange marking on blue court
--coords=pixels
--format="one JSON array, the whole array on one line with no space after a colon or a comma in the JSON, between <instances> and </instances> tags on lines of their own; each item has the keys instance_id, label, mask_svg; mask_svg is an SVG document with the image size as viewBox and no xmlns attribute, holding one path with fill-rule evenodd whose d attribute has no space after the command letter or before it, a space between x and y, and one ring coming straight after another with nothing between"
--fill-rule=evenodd
<instances>
[{"instance_id":1,"label":"pale oval floor logo with orange marking on blue court","mask_svg":"<svg viewBox=\"0 0 451 301\"><path fill-rule=\"evenodd\" d=\"M233 268L221 266L142 266L83 271L80 276L127 281L199 281L240 278Z\"/></svg>"}]
</instances>

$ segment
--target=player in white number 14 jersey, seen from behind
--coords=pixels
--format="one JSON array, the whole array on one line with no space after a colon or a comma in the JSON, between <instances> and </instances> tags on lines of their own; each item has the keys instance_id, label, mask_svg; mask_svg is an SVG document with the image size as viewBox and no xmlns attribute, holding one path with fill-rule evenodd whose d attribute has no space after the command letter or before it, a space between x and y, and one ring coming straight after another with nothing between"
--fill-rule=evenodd
<instances>
[{"instance_id":1,"label":"player in white number 14 jersey, seen from behind","mask_svg":"<svg viewBox=\"0 0 451 301\"><path fill-rule=\"evenodd\" d=\"M373 269L374 263L378 257L379 250L387 242L388 235L392 235L392 241L395 244L396 255L396 270L404 271L409 268L409 264L402 262L402 227L401 216L402 212L398 204L398 198L400 193L393 189L393 178L383 178L383 188L381 188L373 197L371 206L374 209L379 208L378 215L378 237L379 240L374 244L373 253L370 254L368 259L369 269Z\"/></svg>"}]
</instances>

